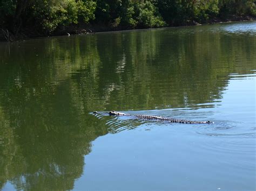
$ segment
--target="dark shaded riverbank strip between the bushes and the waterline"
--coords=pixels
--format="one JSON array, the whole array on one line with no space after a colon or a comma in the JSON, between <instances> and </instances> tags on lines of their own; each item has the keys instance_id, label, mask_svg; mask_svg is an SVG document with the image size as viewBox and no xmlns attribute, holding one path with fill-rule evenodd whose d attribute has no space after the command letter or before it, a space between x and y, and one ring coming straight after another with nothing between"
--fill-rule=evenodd
<instances>
[{"instance_id":1,"label":"dark shaded riverbank strip between the bushes and the waterline","mask_svg":"<svg viewBox=\"0 0 256 191\"><path fill-rule=\"evenodd\" d=\"M202 24L217 24L217 23L230 23L230 22L248 22L256 20L255 16L231 16L228 18L213 18L208 22L197 23L195 21L190 21L186 23L180 23L178 25L169 25L168 27L177 27L177 26L193 26L193 25L202 25ZM65 29L57 30L52 34L45 34L41 31L33 30L32 28L21 29L19 33L12 34L8 30L3 30L0 28L0 41L19 41L26 40L31 38L42 38L49 36L69 36L72 34L94 34L97 32L111 32L111 31L125 31L125 30L138 30L138 29L150 29L145 27L138 27L137 29L130 29L129 27L118 27L113 25L104 25L104 24L90 24L90 25L71 25L65 27Z\"/></svg>"}]
</instances>

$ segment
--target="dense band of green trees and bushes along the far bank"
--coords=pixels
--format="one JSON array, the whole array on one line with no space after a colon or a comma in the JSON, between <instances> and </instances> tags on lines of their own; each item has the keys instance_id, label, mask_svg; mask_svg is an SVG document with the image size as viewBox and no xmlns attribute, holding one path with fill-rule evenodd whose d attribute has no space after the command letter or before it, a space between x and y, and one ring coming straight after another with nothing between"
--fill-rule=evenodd
<instances>
[{"instance_id":1,"label":"dense band of green trees and bushes along the far bank","mask_svg":"<svg viewBox=\"0 0 256 191\"><path fill-rule=\"evenodd\" d=\"M178 26L256 16L255 0L1 0L0 29L10 40L81 29ZM85 32L85 31L84 31ZM2 37L2 38L3 38Z\"/></svg>"}]
</instances>

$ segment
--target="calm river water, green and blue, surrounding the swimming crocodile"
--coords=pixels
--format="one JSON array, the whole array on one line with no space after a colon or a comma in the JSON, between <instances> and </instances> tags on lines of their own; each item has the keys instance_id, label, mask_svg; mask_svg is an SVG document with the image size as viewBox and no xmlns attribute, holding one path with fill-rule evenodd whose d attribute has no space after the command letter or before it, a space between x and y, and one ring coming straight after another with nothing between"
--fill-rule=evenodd
<instances>
[{"instance_id":1,"label":"calm river water, green and blue, surrounding the swimming crocodile","mask_svg":"<svg viewBox=\"0 0 256 191\"><path fill-rule=\"evenodd\" d=\"M0 43L0 189L255 190L255 82L256 22Z\"/></svg>"}]
</instances>

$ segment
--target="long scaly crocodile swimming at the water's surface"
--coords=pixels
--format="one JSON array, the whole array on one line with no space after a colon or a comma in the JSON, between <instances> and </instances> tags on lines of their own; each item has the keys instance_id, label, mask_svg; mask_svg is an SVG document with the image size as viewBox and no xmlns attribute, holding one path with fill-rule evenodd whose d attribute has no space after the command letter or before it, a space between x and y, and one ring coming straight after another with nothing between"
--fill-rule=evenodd
<instances>
[{"instance_id":1,"label":"long scaly crocodile swimming at the water's surface","mask_svg":"<svg viewBox=\"0 0 256 191\"><path fill-rule=\"evenodd\" d=\"M98 111L94 111L93 114L98 114ZM166 118L166 117L161 117L161 116L151 116L151 115L130 115L130 114L125 114L122 112L118 111L110 111L108 113L111 116L134 116L138 119L154 119L154 120L159 120L159 121L165 121L165 122L170 122L170 123L186 123L186 124L210 124L213 122L210 121L190 121L190 120L184 120L184 119L174 119L174 118Z\"/></svg>"}]
</instances>

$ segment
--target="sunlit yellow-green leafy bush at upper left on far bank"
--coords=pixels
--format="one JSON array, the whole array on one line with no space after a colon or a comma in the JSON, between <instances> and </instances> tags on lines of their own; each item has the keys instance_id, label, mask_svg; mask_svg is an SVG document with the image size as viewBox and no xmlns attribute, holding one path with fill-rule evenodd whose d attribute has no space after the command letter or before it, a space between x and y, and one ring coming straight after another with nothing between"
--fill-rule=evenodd
<instances>
[{"instance_id":1,"label":"sunlit yellow-green leafy bush at upper left on far bank","mask_svg":"<svg viewBox=\"0 0 256 191\"><path fill-rule=\"evenodd\" d=\"M43 30L51 33L58 26L78 24L78 20L89 23L95 18L95 9L96 3L91 0L37 1L33 6L33 15Z\"/></svg>"}]
</instances>

